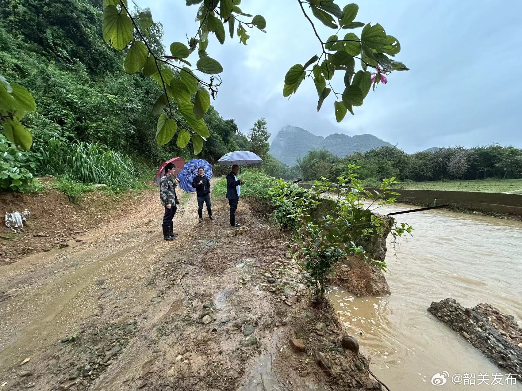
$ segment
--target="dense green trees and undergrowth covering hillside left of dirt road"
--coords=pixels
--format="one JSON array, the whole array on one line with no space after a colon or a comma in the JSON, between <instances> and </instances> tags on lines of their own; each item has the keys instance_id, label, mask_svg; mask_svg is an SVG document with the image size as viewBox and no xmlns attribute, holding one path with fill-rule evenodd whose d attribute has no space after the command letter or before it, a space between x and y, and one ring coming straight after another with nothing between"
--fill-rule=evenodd
<instances>
[{"instance_id":1,"label":"dense green trees and undergrowth covering hillside left of dirt road","mask_svg":"<svg viewBox=\"0 0 522 391\"><path fill-rule=\"evenodd\" d=\"M158 83L122 69L124 53L102 39L101 0L0 1L0 74L25 85L37 102L22 124L32 132L30 152L2 137L0 190L40 188L33 175L51 174L117 188L135 186L160 162L191 158L171 142L158 146L152 105ZM150 42L164 53L163 29L155 23ZM247 143L233 119L210 106L210 138L200 157L215 162Z\"/></svg>"}]
</instances>

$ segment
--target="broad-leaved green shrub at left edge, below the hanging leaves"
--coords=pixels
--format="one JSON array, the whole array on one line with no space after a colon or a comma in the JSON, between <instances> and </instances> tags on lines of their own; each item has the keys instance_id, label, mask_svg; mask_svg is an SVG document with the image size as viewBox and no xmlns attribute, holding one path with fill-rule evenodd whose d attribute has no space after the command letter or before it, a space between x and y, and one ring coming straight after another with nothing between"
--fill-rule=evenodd
<instances>
[{"instance_id":1,"label":"broad-leaved green shrub at left edge, below the hanging leaves","mask_svg":"<svg viewBox=\"0 0 522 391\"><path fill-rule=\"evenodd\" d=\"M0 190L22 193L40 190L42 185L31 171L41 158L38 153L18 150L0 133Z\"/></svg>"}]
</instances>

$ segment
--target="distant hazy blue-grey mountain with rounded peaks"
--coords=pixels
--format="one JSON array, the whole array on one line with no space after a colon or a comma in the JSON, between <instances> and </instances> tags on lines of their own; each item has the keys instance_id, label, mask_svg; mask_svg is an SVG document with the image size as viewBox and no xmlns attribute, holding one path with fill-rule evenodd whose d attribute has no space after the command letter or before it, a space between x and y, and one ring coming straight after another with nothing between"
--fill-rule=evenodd
<instances>
[{"instance_id":1,"label":"distant hazy blue-grey mountain with rounded peaks","mask_svg":"<svg viewBox=\"0 0 522 391\"><path fill-rule=\"evenodd\" d=\"M303 157L312 149L327 149L339 157L354 152L366 152L379 146L393 146L373 135L348 136L342 133L322 137L296 126L283 126L270 144L270 154L279 161L293 166L296 158Z\"/></svg>"}]
</instances>

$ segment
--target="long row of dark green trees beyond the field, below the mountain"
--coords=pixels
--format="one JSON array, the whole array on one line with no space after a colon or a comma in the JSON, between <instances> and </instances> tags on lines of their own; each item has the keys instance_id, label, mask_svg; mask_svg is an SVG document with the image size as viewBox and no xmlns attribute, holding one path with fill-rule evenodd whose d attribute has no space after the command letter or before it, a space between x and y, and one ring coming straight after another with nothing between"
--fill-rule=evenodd
<instances>
[{"instance_id":1,"label":"long row of dark green trees beyond the field, below the mountain","mask_svg":"<svg viewBox=\"0 0 522 391\"><path fill-rule=\"evenodd\" d=\"M326 150L310 151L298 161L304 180L325 176L336 178L347 172L349 164L362 166L359 176L368 186L386 177L402 181L437 181L451 179L522 178L522 149L491 144L465 149L440 148L414 154L390 146L344 158Z\"/></svg>"}]
</instances>

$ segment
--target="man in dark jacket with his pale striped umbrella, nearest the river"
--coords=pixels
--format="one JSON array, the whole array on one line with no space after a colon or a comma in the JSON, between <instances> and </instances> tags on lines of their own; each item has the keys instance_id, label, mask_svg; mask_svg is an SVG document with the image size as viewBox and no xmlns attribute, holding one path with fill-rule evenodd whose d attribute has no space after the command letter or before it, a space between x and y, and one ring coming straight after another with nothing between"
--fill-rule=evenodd
<instances>
[{"instance_id":1,"label":"man in dark jacket with his pale striped umbrella, nearest the river","mask_svg":"<svg viewBox=\"0 0 522 391\"><path fill-rule=\"evenodd\" d=\"M232 165L232 172L227 175L227 198L230 205L230 225L232 227L240 227L241 225L235 222L235 211L238 209L238 200L241 194L240 185L243 184L243 179L238 179L238 172L242 164L255 164L262 162L263 159L250 151L234 151L223 155L218 163L228 166Z\"/></svg>"}]
</instances>

